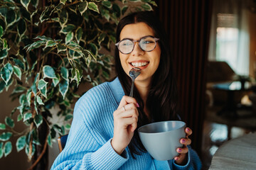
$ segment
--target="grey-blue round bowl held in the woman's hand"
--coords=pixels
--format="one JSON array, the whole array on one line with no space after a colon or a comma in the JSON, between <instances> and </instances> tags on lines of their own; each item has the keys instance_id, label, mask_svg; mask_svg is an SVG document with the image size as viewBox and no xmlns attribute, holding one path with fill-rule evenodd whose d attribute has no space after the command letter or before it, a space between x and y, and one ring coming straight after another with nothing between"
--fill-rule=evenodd
<instances>
[{"instance_id":1,"label":"grey-blue round bowl held in the woman's hand","mask_svg":"<svg viewBox=\"0 0 256 170\"><path fill-rule=\"evenodd\" d=\"M176 149L183 146L180 140L186 137L185 127L182 121L150 123L138 129L139 138L154 159L171 160L178 156Z\"/></svg>"}]
</instances>

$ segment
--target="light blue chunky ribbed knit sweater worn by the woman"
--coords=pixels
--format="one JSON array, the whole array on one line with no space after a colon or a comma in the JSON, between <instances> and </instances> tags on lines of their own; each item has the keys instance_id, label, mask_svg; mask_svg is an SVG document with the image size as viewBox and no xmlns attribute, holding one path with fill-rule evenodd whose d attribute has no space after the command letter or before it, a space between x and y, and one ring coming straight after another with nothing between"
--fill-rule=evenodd
<instances>
[{"instance_id":1,"label":"light blue chunky ribbed knit sweater worn by the woman","mask_svg":"<svg viewBox=\"0 0 256 170\"><path fill-rule=\"evenodd\" d=\"M51 170L63 169L201 169L196 152L189 148L188 163L175 164L174 159L157 161L148 152L135 154L128 147L122 155L114 152L110 141L114 134L113 113L119 106L124 91L119 79L95 86L75 104L74 118L68 140Z\"/></svg>"}]
</instances>

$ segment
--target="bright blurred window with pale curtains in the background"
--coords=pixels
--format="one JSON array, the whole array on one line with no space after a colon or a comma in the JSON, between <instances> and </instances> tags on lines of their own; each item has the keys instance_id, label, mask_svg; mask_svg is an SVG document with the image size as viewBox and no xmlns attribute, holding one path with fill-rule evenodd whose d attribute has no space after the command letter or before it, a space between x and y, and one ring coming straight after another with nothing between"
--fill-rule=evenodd
<instances>
[{"instance_id":1,"label":"bright blurred window with pale curtains in the background","mask_svg":"<svg viewBox=\"0 0 256 170\"><path fill-rule=\"evenodd\" d=\"M236 74L249 75L248 10L243 0L214 0L208 60L225 61Z\"/></svg>"}]
</instances>

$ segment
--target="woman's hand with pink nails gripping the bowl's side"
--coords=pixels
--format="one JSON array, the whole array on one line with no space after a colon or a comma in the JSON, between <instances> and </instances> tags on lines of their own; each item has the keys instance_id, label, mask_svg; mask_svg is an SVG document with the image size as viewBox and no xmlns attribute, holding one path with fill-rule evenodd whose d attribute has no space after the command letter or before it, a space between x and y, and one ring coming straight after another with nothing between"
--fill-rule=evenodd
<instances>
[{"instance_id":1,"label":"woman's hand with pink nails gripping the bowl's side","mask_svg":"<svg viewBox=\"0 0 256 170\"><path fill-rule=\"evenodd\" d=\"M176 164L186 165L188 162L188 147L187 145L191 145L191 140L188 138L189 135L192 134L192 130L190 128L185 129L186 138L181 138L180 142L183 145L182 148L178 147L176 151L180 153L177 157L174 157Z\"/></svg>"}]
</instances>

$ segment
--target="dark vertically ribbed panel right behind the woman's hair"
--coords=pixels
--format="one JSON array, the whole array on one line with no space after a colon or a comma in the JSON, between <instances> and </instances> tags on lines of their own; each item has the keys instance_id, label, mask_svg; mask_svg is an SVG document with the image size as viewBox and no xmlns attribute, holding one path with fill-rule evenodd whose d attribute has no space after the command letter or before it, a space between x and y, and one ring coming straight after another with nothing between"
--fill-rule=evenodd
<instances>
[{"instance_id":1,"label":"dark vertically ribbed panel right behind the woman's hair","mask_svg":"<svg viewBox=\"0 0 256 170\"><path fill-rule=\"evenodd\" d=\"M201 155L205 115L206 62L213 0L158 0L154 9L171 45L179 110L193 130L191 147Z\"/></svg>"}]
</instances>

